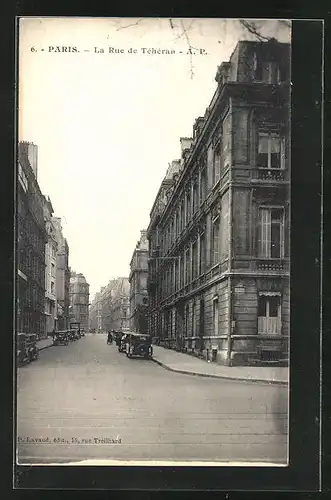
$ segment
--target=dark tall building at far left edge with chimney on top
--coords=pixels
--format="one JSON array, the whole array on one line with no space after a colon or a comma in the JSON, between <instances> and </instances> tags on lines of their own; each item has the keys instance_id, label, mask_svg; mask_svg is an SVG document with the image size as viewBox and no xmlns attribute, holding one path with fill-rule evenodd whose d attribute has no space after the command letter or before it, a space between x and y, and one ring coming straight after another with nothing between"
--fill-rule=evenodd
<instances>
[{"instance_id":1,"label":"dark tall building at far left edge with chimney on top","mask_svg":"<svg viewBox=\"0 0 331 500\"><path fill-rule=\"evenodd\" d=\"M37 146L18 145L17 331L45 334L45 244L43 195L37 182Z\"/></svg>"}]
</instances>

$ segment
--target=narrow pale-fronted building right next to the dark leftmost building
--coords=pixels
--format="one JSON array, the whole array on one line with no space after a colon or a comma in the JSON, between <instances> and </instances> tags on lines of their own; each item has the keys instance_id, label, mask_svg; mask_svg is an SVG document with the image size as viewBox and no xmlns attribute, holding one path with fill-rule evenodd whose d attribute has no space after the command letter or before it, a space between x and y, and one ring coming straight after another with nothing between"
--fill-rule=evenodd
<instances>
[{"instance_id":1,"label":"narrow pale-fronted building right next to the dark leftmost building","mask_svg":"<svg viewBox=\"0 0 331 500\"><path fill-rule=\"evenodd\" d=\"M57 330L56 269L57 249L56 225L53 220L53 206L50 198L43 197L44 220L47 242L45 246L45 334Z\"/></svg>"}]
</instances>

